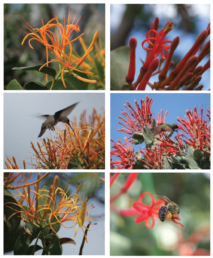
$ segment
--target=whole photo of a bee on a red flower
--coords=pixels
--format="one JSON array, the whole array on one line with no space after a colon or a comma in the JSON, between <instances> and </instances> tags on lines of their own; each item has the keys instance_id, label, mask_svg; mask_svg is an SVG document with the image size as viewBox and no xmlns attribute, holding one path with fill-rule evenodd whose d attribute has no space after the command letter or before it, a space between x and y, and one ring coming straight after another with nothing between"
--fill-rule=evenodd
<instances>
[{"instance_id":1,"label":"whole photo of a bee on a red flower","mask_svg":"<svg viewBox=\"0 0 213 258\"><path fill-rule=\"evenodd\" d=\"M210 255L210 173L112 173L110 255Z\"/></svg>"}]
</instances>

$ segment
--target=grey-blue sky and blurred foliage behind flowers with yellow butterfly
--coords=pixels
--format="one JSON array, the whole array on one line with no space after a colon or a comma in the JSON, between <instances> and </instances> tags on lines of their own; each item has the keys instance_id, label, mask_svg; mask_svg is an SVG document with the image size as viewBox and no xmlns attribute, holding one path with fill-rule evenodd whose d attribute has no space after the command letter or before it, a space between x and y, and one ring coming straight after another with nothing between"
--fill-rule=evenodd
<instances>
[{"instance_id":1,"label":"grey-blue sky and blurred foliage behind flowers with yellow butterfly","mask_svg":"<svg viewBox=\"0 0 213 258\"><path fill-rule=\"evenodd\" d=\"M28 173L29 176L30 173ZM45 173L41 173L41 177L44 176ZM91 231L87 232L87 241L85 242L83 247L83 255L104 255L104 235L105 235L105 184L104 182L99 180L99 177L104 178L104 173L70 173L70 172L51 172L50 175L48 175L47 178L40 181L39 189L42 189L43 186L46 186L47 189L50 188L50 184L53 183L54 177L58 175L59 182L58 187L65 189L65 185L67 183L67 179L69 177L67 188L69 187L69 184L71 183L71 187L69 188L69 191L67 192L67 196L72 194L75 189L78 187L78 185L81 183L81 188L79 191L79 194L83 193L82 200L84 200L86 197L88 197L87 206L90 206L93 204L95 208L91 209L89 211L89 218L94 218L97 216L101 216L101 218L94 218L91 219L91 223L97 223L97 225L90 225L89 229ZM31 178L28 180L28 183L35 182L37 180L38 173L33 172L31 175ZM21 176L18 177L19 179ZM23 182L19 182L17 185L22 185ZM31 190L33 190L34 187L32 187ZM12 190L11 194L17 193L17 190ZM58 201L60 200L60 194L58 194ZM71 197L72 198L72 197ZM23 203L24 204L24 203ZM26 204L24 204L26 205ZM74 225L71 221L66 221L64 223L66 227L71 227ZM79 255L79 249L81 247L81 243L84 237L82 229L78 228L77 234L74 237L76 227L74 226L71 229L67 229L63 226L60 226L60 229L57 233L59 238L61 237L69 237L73 239L76 242L76 245L73 244L64 244L62 245L62 255ZM40 241L40 240L39 240ZM38 245L42 246L42 243L39 243ZM35 240L32 242L32 244L35 243ZM31 244L31 245L32 245ZM35 253L35 255L41 255L42 250L39 250ZM13 255L13 251L5 253L5 255Z\"/></svg>"}]
</instances>

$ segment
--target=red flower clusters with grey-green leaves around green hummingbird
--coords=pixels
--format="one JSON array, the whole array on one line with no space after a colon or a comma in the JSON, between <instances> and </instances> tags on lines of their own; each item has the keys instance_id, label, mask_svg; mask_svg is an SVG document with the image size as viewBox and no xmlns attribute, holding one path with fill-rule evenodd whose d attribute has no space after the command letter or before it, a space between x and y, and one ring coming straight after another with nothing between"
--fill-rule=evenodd
<instances>
[{"instance_id":1,"label":"red flower clusters with grey-green leaves around green hummingbird","mask_svg":"<svg viewBox=\"0 0 213 258\"><path fill-rule=\"evenodd\" d=\"M123 128L117 131L129 137L124 138L125 143L111 139L111 169L210 169L210 109L195 107L194 113L187 109L185 119L177 117L180 124L174 124L177 135L173 138L174 129L167 129L172 125L165 122L168 111L164 116L161 109L155 121L151 104L152 99L146 96L140 105L135 100L136 109L128 101L124 105L129 112L118 116ZM161 125L157 134L153 131L156 124ZM135 151L134 145L142 143L145 147Z\"/></svg>"}]
</instances>

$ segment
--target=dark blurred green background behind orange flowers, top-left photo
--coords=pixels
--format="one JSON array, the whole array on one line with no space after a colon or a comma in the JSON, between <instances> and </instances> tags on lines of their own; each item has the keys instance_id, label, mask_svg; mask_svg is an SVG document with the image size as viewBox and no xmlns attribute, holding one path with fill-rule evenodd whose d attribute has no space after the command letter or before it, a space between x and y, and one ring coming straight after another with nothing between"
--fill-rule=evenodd
<instances>
[{"instance_id":1,"label":"dark blurred green background behind orange flowers, top-left photo","mask_svg":"<svg viewBox=\"0 0 213 258\"><path fill-rule=\"evenodd\" d=\"M59 22L64 24L65 15L66 22L68 19L69 7L70 11L73 11L71 20L73 20L76 12L75 21L81 16L78 24L80 25L80 32L85 33L83 40L87 47L89 47L97 30L102 41L105 42L105 4L4 4L4 89L12 79L17 79L24 86L26 82L36 80L38 76L38 72L11 70L13 67L43 65L46 63L46 48L40 42L31 41L34 49L30 48L28 44L30 38L24 42L23 46L21 45L26 36L21 29L30 32L23 25L27 25L25 21L32 27L40 28L42 27L40 14L44 24L46 24L50 19L54 18L53 12L55 12ZM73 31L73 38L77 36L79 34ZM80 56L82 53L84 54L78 40L73 45ZM49 55L49 60L53 57ZM55 67L54 65L54 62L50 64L51 67L58 69L58 66L56 65ZM43 74L43 81L40 81L40 83L46 83L45 74Z\"/></svg>"}]
</instances>

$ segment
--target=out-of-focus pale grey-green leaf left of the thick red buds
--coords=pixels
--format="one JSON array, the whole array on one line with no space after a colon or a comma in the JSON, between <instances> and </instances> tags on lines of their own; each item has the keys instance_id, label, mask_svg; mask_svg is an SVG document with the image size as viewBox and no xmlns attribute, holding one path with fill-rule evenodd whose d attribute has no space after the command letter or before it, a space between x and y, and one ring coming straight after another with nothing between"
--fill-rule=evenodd
<instances>
[{"instance_id":1,"label":"out-of-focus pale grey-green leaf left of the thick red buds","mask_svg":"<svg viewBox=\"0 0 213 258\"><path fill-rule=\"evenodd\" d=\"M130 48L122 46L110 53L110 87L111 90L121 90L121 86L126 84L130 61Z\"/></svg>"}]
</instances>

